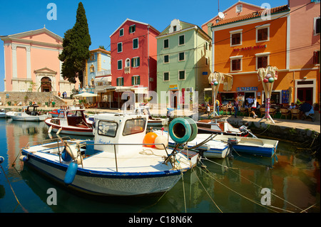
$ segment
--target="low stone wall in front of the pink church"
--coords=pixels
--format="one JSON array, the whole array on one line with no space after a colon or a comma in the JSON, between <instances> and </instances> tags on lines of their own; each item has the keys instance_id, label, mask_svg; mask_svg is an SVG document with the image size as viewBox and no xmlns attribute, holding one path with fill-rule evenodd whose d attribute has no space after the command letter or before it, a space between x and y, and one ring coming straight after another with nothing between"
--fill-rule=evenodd
<instances>
[{"instance_id":1,"label":"low stone wall in front of the pink church","mask_svg":"<svg viewBox=\"0 0 321 227\"><path fill-rule=\"evenodd\" d=\"M50 107L52 107L52 102L55 102L55 107L66 105L66 102L54 92L0 92L0 105L2 106L27 106L30 102L40 107L45 107L46 102Z\"/></svg>"}]
</instances>

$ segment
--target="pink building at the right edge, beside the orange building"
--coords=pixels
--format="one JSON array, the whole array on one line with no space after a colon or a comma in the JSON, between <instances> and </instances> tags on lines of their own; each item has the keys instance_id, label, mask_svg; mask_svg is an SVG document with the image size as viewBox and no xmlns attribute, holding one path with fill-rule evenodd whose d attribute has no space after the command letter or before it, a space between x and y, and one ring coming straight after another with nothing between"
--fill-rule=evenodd
<instances>
[{"instance_id":1,"label":"pink building at the right edge, beside the orange building","mask_svg":"<svg viewBox=\"0 0 321 227\"><path fill-rule=\"evenodd\" d=\"M294 98L320 105L320 1L289 0L288 5Z\"/></svg>"}]
</instances>

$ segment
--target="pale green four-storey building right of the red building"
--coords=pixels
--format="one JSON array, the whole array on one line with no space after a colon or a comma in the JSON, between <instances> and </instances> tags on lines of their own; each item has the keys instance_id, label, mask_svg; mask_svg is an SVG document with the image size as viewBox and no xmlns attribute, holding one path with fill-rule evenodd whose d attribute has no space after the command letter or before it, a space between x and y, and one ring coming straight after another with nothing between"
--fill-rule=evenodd
<instances>
[{"instance_id":1,"label":"pale green four-storey building right of the red building","mask_svg":"<svg viewBox=\"0 0 321 227\"><path fill-rule=\"evenodd\" d=\"M195 24L174 19L156 39L158 103L182 108L193 93L203 103L203 90L210 87L210 36Z\"/></svg>"}]
</instances>

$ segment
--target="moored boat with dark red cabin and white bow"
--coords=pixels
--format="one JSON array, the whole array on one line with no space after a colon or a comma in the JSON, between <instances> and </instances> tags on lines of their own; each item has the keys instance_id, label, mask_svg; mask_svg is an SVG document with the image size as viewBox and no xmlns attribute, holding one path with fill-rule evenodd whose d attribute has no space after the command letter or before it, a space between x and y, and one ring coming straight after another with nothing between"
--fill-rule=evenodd
<instances>
[{"instance_id":1,"label":"moored boat with dark red cabin and white bow","mask_svg":"<svg viewBox=\"0 0 321 227\"><path fill-rule=\"evenodd\" d=\"M86 121L84 111L60 110L58 117L47 118L45 123L49 126L49 133L93 136L93 125Z\"/></svg>"}]
</instances>

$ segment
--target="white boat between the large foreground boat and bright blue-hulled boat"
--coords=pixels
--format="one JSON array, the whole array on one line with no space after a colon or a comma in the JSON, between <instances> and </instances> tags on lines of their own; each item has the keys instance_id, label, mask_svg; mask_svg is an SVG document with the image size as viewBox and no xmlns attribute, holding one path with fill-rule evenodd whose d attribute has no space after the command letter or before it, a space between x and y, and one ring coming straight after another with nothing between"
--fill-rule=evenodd
<instances>
[{"instance_id":1,"label":"white boat between the large foreground boat and bright blue-hulled boat","mask_svg":"<svg viewBox=\"0 0 321 227\"><path fill-rule=\"evenodd\" d=\"M168 137L168 132L162 130L154 130L153 132L155 132L158 135L163 134L164 137ZM203 152L204 157L224 159L226 156L228 156L230 152L228 143L216 140L215 137L216 134L212 136L210 136L210 134L197 134L195 139L188 142L186 146L189 148L193 148L196 145L208 140L208 142L205 142L203 145L195 149L197 149L199 152ZM168 137L168 144L172 147L175 147L175 142L173 141L173 139L170 139L170 137Z\"/></svg>"}]
</instances>

